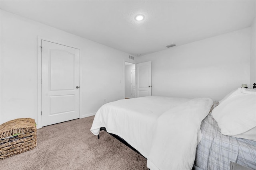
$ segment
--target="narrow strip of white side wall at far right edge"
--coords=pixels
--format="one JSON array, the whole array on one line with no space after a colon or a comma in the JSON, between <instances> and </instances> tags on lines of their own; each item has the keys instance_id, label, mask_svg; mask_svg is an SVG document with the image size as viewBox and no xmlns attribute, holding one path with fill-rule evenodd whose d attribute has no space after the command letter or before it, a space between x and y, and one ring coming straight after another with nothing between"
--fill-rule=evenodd
<instances>
[{"instance_id":1,"label":"narrow strip of white side wall at far right edge","mask_svg":"<svg viewBox=\"0 0 256 170\"><path fill-rule=\"evenodd\" d=\"M250 88L256 83L256 17L251 25Z\"/></svg>"}]
</instances>

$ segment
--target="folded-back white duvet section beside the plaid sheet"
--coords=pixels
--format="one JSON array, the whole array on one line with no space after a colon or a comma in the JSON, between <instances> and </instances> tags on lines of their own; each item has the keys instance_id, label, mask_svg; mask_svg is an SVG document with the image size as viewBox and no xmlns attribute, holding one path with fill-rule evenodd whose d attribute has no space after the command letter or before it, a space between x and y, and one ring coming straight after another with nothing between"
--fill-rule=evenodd
<instances>
[{"instance_id":1,"label":"folded-back white duvet section beside the plaid sheet","mask_svg":"<svg viewBox=\"0 0 256 170\"><path fill-rule=\"evenodd\" d=\"M194 98L164 112L156 123L147 160L150 170L191 170L196 156L198 131L213 101Z\"/></svg>"}]
</instances>

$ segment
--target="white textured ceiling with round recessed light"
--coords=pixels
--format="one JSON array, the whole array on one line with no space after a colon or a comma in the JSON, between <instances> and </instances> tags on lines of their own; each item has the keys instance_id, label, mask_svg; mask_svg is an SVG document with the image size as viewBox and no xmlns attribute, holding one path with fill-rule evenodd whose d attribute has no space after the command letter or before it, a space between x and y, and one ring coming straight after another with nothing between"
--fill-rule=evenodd
<instances>
[{"instance_id":1,"label":"white textured ceiling with round recessed light","mask_svg":"<svg viewBox=\"0 0 256 170\"><path fill-rule=\"evenodd\" d=\"M1 9L132 55L250 27L255 17L254 0L1 0Z\"/></svg>"}]
</instances>

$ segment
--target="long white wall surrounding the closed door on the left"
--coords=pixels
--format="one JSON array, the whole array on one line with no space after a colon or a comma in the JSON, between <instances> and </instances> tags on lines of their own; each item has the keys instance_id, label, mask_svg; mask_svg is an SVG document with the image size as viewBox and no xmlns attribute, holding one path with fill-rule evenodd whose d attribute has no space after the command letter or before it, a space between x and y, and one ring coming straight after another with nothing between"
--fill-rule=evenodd
<instances>
[{"instance_id":1,"label":"long white wall surrounding the closed door on the left","mask_svg":"<svg viewBox=\"0 0 256 170\"><path fill-rule=\"evenodd\" d=\"M124 98L129 54L1 10L0 124L20 117L38 120L38 36L80 49L80 117L95 113L104 99Z\"/></svg>"}]
</instances>

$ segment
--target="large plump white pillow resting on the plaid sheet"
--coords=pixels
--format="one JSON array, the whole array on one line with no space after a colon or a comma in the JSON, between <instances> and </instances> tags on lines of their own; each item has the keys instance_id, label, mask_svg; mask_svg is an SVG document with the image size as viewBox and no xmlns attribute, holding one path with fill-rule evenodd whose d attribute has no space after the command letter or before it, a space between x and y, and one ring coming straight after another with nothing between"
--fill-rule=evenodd
<instances>
[{"instance_id":1,"label":"large plump white pillow resting on the plaid sheet","mask_svg":"<svg viewBox=\"0 0 256 170\"><path fill-rule=\"evenodd\" d=\"M212 116L222 134L241 137L256 127L256 90L238 88L213 109ZM246 135L243 138L247 139ZM251 140L256 140L256 134Z\"/></svg>"}]
</instances>

